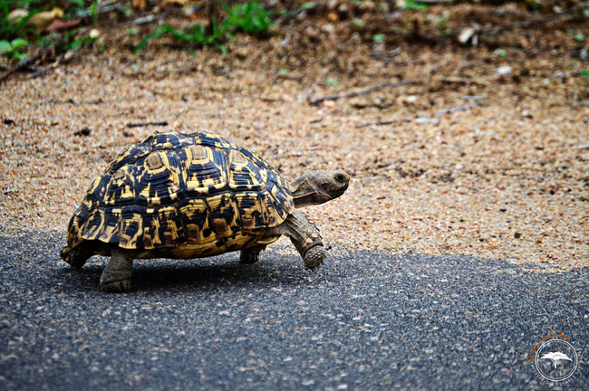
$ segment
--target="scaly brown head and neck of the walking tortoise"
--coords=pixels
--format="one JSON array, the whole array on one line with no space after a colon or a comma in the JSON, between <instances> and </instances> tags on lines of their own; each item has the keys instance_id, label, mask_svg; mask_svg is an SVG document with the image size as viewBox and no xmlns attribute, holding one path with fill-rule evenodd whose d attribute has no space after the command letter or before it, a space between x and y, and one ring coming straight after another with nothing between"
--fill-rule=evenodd
<instances>
[{"instance_id":1,"label":"scaly brown head and neck of the walking tortoise","mask_svg":"<svg viewBox=\"0 0 589 391\"><path fill-rule=\"evenodd\" d=\"M343 195L350 176L342 170L315 170L291 183L294 207L319 205Z\"/></svg>"}]
</instances>

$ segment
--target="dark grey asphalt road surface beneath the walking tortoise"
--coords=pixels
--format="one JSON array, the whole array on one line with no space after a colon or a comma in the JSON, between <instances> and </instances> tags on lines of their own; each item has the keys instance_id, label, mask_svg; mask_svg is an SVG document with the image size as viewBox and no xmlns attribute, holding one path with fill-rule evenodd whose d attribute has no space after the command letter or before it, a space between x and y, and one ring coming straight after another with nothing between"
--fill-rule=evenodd
<instances>
[{"instance_id":1,"label":"dark grey asphalt road surface beneath the walking tortoise","mask_svg":"<svg viewBox=\"0 0 589 391\"><path fill-rule=\"evenodd\" d=\"M136 262L99 290L105 259L59 259L64 234L0 233L0 389L589 389L589 270L332 249L307 272L278 243ZM579 355L566 384L527 359L550 333Z\"/></svg>"}]
</instances>

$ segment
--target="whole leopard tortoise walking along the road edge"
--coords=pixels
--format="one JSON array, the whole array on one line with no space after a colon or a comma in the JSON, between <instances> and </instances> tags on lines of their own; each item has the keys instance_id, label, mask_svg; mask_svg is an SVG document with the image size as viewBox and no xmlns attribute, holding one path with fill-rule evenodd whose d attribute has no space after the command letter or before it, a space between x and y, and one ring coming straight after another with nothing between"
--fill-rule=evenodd
<instances>
[{"instance_id":1,"label":"whole leopard tortoise walking along the road edge","mask_svg":"<svg viewBox=\"0 0 589 391\"><path fill-rule=\"evenodd\" d=\"M288 184L262 157L216 134L156 132L94 179L60 255L74 269L110 256L100 282L115 292L130 290L134 259L241 251L241 262L254 263L282 234L315 269L322 238L299 208L342 196L349 181L342 170L314 170Z\"/></svg>"}]
</instances>

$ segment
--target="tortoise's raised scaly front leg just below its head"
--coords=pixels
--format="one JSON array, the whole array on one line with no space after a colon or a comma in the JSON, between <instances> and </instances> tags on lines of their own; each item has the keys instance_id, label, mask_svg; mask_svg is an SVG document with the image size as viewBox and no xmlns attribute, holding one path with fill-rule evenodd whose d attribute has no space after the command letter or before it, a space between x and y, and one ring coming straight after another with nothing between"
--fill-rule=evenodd
<instances>
[{"instance_id":1,"label":"tortoise's raised scaly front leg just below its head","mask_svg":"<svg viewBox=\"0 0 589 391\"><path fill-rule=\"evenodd\" d=\"M293 242L303 258L305 268L316 269L321 266L325 256L321 235L314 222L309 221L301 211L294 209L283 224L266 231L268 236L280 234L285 234Z\"/></svg>"}]
</instances>

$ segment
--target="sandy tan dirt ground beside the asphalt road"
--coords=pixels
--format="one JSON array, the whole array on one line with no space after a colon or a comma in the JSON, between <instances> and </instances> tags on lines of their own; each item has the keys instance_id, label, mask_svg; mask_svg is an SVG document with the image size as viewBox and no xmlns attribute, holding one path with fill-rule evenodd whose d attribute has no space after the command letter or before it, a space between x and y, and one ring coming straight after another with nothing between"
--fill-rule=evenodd
<instances>
[{"instance_id":1,"label":"sandy tan dirt ground beside the asphalt road","mask_svg":"<svg viewBox=\"0 0 589 391\"><path fill-rule=\"evenodd\" d=\"M0 226L64 233L111 159L164 129L127 125L166 121L252 148L290 179L348 171L348 192L309 210L328 244L473 254L538 271L589 267L589 63L579 54L589 38L575 39L589 37L587 18L481 33L477 46L439 34L440 20L456 36L475 22L536 16L434 5L386 20L358 13L361 28L315 13L265 39L239 35L227 55L196 56L167 39L134 55L139 38L107 21L105 52L82 50L0 85ZM408 23L423 33L394 30ZM152 28L139 26L140 36ZM376 33L386 39L375 43ZM412 82L308 100L391 81Z\"/></svg>"}]
</instances>

